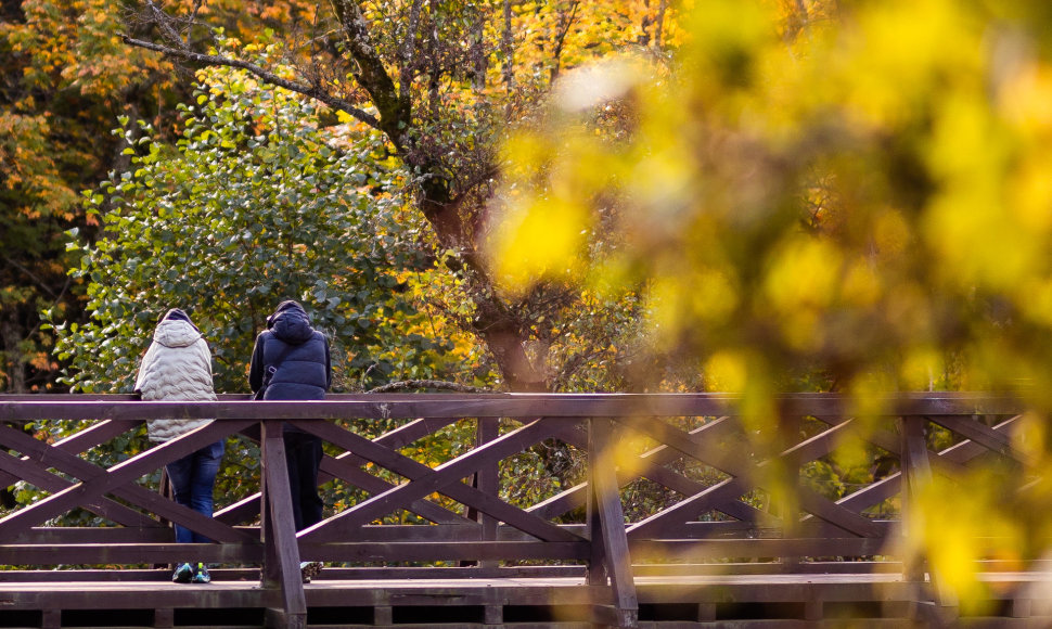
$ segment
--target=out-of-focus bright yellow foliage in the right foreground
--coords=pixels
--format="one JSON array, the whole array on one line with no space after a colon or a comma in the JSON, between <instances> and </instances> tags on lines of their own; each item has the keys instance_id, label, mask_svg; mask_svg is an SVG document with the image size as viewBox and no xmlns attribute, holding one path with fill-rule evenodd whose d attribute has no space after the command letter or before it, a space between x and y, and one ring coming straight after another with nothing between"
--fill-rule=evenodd
<instances>
[{"instance_id":1,"label":"out-of-focus bright yellow foliage in the right foreground","mask_svg":"<svg viewBox=\"0 0 1052 629\"><path fill-rule=\"evenodd\" d=\"M786 388L845 391L862 434L887 391L997 389L1035 409L1016 437L1027 472L1052 471L1048 4L680 9L668 59L567 73L516 134L490 251L521 271L503 287L580 269L638 291L651 351L744 394L760 452ZM861 444L845 439L845 465ZM1050 497L1005 510L1004 474L924 486L907 523L965 606L983 599L975 560L1044 548L1027 514Z\"/></svg>"}]
</instances>

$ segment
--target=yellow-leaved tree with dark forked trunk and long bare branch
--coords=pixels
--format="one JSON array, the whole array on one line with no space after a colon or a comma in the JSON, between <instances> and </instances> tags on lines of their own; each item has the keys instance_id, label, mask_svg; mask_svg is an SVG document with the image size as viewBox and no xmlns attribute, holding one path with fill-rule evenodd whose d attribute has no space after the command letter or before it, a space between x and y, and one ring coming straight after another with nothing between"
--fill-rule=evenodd
<instances>
[{"instance_id":1,"label":"yellow-leaved tree with dark forked trunk and long bare branch","mask_svg":"<svg viewBox=\"0 0 1052 629\"><path fill-rule=\"evenodd\" d=\"M611 310L605 303L582 310L580 295L557 284L515 297L500 292L480 255L498 146L509 121L528 118L567 67L641 41L660 51L672 13L664 2L337 0L319 7L309 28L282 34L283 63L296 68L291 78L244 51L209 50L207 15L176 4L144 2L140 16L153 37L125 41L191 66L246 69L382 132L410 174L407 189L431 227L433 256L463 291L459 320L485 342L504 386L544 389L568 382L547 367L551 339L565 332L562 318ZM611 345L608 334L601 345ZM570 357L566 365L585 360Z\"/></svg>"}]
</instances>

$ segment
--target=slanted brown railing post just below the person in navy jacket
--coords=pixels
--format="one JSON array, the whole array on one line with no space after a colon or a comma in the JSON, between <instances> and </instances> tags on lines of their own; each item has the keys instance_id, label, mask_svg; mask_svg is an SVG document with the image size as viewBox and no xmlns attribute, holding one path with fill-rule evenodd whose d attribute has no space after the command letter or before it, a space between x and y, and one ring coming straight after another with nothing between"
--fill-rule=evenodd
<instances>
[{"instance_id":1,"label":"slanted brown railing post just below the person in navy jacket","mask_svg":"<svg viewBox=\"0 0 1052 629\"><path fill-rule=\"evenodd\" d=\"M282 608L268 608L267 627L302 629L307 626L307 601L299 573L299 544L292 513L292 491L285 466L284 422L265 420L260 437L262 465L259 510L264 542L260 580L264 588L281 590Z\"/></svg>"}]
</instances>

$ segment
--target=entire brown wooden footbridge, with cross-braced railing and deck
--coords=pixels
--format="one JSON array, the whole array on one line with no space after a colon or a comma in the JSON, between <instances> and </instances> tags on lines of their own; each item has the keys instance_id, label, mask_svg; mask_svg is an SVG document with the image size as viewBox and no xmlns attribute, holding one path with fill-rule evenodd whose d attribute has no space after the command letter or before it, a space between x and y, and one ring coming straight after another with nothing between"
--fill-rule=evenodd
<instances>
[{"instance_id":1,"label":"entire brown wooden footbridge, with cross-braced railing and deck","mask_svg":"<svg viewBox=\"0 0 1052 629\"><path fill-rule=\"evenodd\" d=\"M967 616L923 557L902 550L911 531L901 514L933 474L952 478L991 459L1027 465L1012 440L1017 400L899 395L882 400L886 416L875 427L857 432L845 398L787 395L777 400L769 437L743 425L740 401L701 394L317 402L0 396L0 486L23 482L44 492L0 512L0 627L1052 624L1052 573L1037 557L1026 572L982 562L991 604ZM99 446L165 416L217 421L98 463ZM387 429L372 438L352 429L369 420ZM80 423L47 442L21 429L27 421ZM283 424L320 436L328 452L320 480L358 496L328 505L330 517L298 534ZM948 445L932 449L933 429ZM453 444L446 460L414 458L411 445L451 434L473 442ZM864 435L886 464L833 500L801 471L851 434ZM244 498L218 497L215 518L145 486L166 463L217 439L258 444L260 467L241 473ZM534 504L511 500L521 492L502 486L513 475L501 466L556 444L578 461L581 482ZM515 484L546 474L535 466ZM795 489L793 498L778 487ZM93 514L85 521L94 524L56 525L70 513ZM172 522L216 542L176 544ZM220 566L213 583L170 582L168 566L188 556ZM300 561L328 567L304 585Z\"/></svg>"}]
</instances>

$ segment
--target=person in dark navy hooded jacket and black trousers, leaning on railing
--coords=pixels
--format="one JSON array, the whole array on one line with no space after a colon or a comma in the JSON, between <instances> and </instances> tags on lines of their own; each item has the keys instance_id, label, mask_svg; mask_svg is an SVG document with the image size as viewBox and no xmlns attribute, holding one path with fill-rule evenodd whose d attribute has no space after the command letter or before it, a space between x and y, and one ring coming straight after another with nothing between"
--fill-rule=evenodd
<instances>
[{"instance_id":1,"label":"person in dark navy hooded jacket and black trousers, leaning on railing","mask_svg":"<svg viewBox=\"0 0 1052 629\"><path fill-rule=\"evenodd\" d=\"M248 368L248 385L265 400L321 400L332 385L329 339L310 325L307 311L297 301L282 301L267 318L267 330L256 336ZM285 462L292 489L296 530L322 519L318 496L318 468L322 459L321 438L286 426ZM304 580L321 568L320 563L300 566Z\"/></svg>"}]
</instances>

